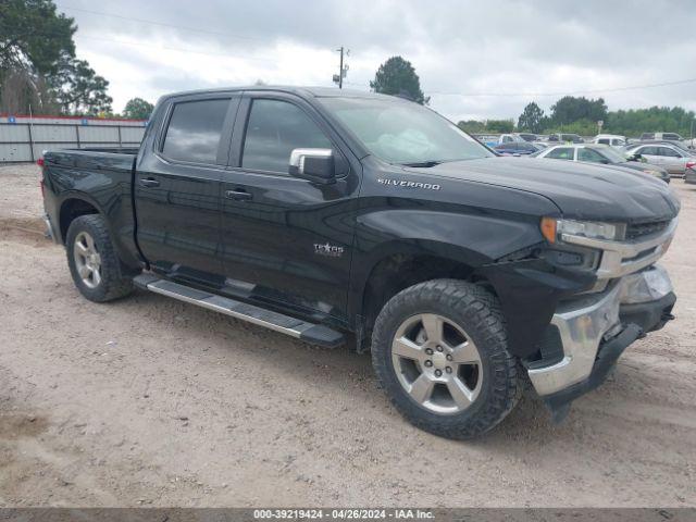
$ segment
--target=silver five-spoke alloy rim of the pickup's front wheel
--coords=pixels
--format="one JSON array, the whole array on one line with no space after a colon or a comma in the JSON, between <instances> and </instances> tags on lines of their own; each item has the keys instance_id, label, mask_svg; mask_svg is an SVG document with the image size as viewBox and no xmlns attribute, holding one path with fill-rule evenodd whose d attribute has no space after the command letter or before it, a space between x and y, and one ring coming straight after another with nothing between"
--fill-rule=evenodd
<instances>
[{"instance_id":1,"label":"silver five-spoke alloy rim of the pickup's front wheel","mask_svg":"<svg viewBox=\"0 0 696 522\"><path fill-rule=\"evenodd\" d=\"M403 321L391 343L391 361L403 389L434 413L459 413L481 391L478 349L442 315L423 313Z\"/></svg>"}]
</instances>

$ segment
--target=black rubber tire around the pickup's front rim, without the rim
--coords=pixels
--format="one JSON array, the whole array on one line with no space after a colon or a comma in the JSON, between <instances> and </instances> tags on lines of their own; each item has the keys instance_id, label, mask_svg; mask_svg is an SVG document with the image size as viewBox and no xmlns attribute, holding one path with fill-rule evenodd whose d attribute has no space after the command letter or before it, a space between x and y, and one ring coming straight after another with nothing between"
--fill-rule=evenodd
<instances>
[{"instance_id":1,"label":"black rubber tire around the pickup's front rim, without the rim","mask_svg":"<svg viewBox=\"0 0 696 522\"><path fill-rule=\"evenodd\" d=\"M395 335L409 318L423 313L458 325L477 348L481 370L476 370L476 378L482 381L477 396L462 411L431 411L399 382L391 357ZM459 279L428 281L393 297L375 321L372 363L396 409L415 426L447 438L469 439L486 433L514 408L522 393L518 360L507 350L498 299L485 288Z\"/></svg>"}]
</instances>

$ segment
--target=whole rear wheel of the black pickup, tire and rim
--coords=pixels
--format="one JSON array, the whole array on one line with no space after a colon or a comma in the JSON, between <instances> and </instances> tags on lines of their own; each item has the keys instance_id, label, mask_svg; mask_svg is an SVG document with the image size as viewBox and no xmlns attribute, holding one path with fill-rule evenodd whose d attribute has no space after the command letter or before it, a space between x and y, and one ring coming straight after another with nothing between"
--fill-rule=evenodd
<instances>
[{"instance_id":1,"label":"whole rear wheel of the black pickup, tire and rim","mask_svg":"<svg viewBox=\"0 0 696 522\"><path fill-rule=\"evenodd\" d=\"M130 277L122 277L119 258L104 219L80 215L67 229L65 250L75 286L91 301L104 302L133 291Z\"/></svg>"}]
</instances>

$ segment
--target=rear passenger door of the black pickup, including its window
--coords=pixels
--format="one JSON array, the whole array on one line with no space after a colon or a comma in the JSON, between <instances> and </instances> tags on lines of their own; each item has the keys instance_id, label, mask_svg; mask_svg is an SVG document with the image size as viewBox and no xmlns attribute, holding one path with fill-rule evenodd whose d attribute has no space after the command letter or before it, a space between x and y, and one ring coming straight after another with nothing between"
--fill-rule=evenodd
<instances>
[{"instance_id":1,"label":"rear passenger door of the black pickup, including its window","mask_svg":"<svg viewBox=\"0 0 696 522\"><path fill-rule=\"evenodd\" d=\"M138 245L170 277L220 286L220 184L240 95L173 98L134 181ZM144 144L145 146L145 144Z\"/></svg>"}]
</instances>

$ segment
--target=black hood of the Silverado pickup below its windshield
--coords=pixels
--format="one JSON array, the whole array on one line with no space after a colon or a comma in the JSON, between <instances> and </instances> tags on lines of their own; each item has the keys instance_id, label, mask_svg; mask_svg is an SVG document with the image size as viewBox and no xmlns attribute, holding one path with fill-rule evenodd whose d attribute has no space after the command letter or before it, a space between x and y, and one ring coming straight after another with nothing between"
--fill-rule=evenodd
<instances>
[{"instance_id":1,"label":"black hood of the Silverado pickup below its windshield","mask_svg":"<svg viewBox=\"0 0 696 522\"><path fill-rule=\"evenodd\" d=\"M679 199L660 179L607 165L504 157L407 170L534 192L576 220L662 221L674 217L680 209Z\"/></svg>"}]
</instances>

